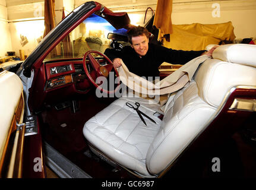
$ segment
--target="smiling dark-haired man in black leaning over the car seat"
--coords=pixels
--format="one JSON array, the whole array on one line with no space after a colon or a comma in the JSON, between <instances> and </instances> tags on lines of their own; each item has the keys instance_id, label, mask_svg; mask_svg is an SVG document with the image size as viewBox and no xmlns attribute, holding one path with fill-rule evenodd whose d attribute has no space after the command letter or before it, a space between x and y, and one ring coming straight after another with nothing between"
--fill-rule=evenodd
<instances>
[{"instance_id":1,"label":"smiling dark-haired man in black leaning over the car seat","mask_svg":"<svg viewBox=\"0 0 256 190\"><path fill-rule=\"evenodd\" d=\"M144 27L134 27L128 32L128 40L131 46L123 49L106 49L105 55L112 60L115 67L121 66L121 59L130 72L140 77L159 77L159 66L163 62L170 64L185 64L191 59L202 54L211 56L213 50L208 52L174 50L167 47L149 43L150 33Z\"/></svg>"}]
</instances>

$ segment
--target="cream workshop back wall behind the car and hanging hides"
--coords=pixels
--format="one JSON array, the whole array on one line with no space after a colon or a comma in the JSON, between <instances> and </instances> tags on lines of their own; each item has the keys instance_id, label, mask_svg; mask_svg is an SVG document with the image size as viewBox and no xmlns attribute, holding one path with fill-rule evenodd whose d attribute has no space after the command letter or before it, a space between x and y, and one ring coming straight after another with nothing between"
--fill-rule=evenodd
<instances>
[{"instance_id":1,"label":"cream workshop back wall behind the car and hanging hides","mask_svg":"<svg viewBox=\"0 0 256 190\"><path fill-rule=\"evenodd\" d=\"M6 3L5 3L6 1ZM83 4L83 0L55 0L56 23L61 20L62 8L65 7L67 15L73 8ZM157 0L97 0L113 12L126 11L131 18L131 23L144 26L143 20L147 7L156 11ZM44 1L43 0L0 0L0 24L3 40L6 48L1 49L0 56L7 52L7 49L23 49L25 55L38 45L44 29ZM7 17L8 12L8 17ZM147 12L147 20L151 12ZM256 37L256 0L173 0L172 23L173 24L216 24L232 21L235 27L236 38ZM7 21L9 24L7 24ZM23 24L22 24L23 23ZM19 26L24 30L20 31ZM35 27L36 26L36 27ZM18 28L18 29L17 29ZM7 32L10 29L11 35ZM29 29L33 33L29 34ZM28 43L21 45L21 33L25 33ZM24 36L24 35L23 35ZM11 38L11 44L10 42ZM1 40L1 42L4 42Z\"/></svg>"}]
</instances>

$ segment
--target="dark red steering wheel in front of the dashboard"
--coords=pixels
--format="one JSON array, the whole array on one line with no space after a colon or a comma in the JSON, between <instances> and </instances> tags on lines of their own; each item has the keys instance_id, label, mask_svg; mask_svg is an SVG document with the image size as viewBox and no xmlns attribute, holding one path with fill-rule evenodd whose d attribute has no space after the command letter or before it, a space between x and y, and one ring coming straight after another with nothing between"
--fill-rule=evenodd
<instances>
[{"instance_id":1,"label":"dark red steering wheel in front of the dashboard","mask_svg":"<svg viewBox=\"0 0 256 190\"><path fill-rule=\"evenodd\" d=\"M100 65L99 62L94 58L93 54L96 53L100 56L102 56L103 58L106 59L106 65ZM88 68L86 66L86 60L89 60L91 66L93 67L94 71L96 71L96 75L95 72L88 71ZM112 71L112 68L115 71L115 74L117 77L119 77L118 71L116 70L115 66L113 66L112 61L110 61L110 59L104 55L102 52L99 52L97 50L89 50L86 53L84 53L84 57L83 57L83 66L84 66L84 71L86 72L87 77L89 78L89 80L91 81L91 83L98 88L99 90L103 91L104 93L108 93L108 94L113 94L115 93L115 91L119 90L119 86L121 84L121 81L118 78L118 86L115 88L115 90L106 90L102 87L103 83L105 83L105 81L103 81L102 84L97 84L96 83L96 78L97 77L105 77L106 80L109 77L109 72ZM110 83L114 83L115 81L110 81Z\"/></svg>"}]
</instances>

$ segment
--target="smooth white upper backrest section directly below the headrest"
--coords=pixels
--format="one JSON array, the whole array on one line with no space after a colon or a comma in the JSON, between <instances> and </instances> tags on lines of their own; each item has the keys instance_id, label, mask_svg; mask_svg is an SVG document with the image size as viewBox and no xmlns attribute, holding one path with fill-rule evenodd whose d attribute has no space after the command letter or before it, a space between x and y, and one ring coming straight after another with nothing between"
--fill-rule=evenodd
<instances>
[{"instance_id":1,"label":"smooth white upper backrest section directly below the headrest","mask_svg":"<svg viewBox=\"0 0 256 190\"><path fill-rule=\"evenodd\" d=\"M198 69L194 80L201 99L211 106L219 107L230 88L236 85L256 85L256 68L208 59Z\"/></svg>"}]
</instances>

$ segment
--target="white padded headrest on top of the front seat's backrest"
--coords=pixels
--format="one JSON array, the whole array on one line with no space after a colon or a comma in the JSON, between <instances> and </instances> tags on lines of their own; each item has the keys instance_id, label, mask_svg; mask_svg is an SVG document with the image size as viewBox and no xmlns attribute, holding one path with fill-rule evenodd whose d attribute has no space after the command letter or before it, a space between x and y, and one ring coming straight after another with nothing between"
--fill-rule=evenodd
<instances>
[{"instance_id":1,"label":"white padded headrest on top of the front seat's backrest","mask_svg":"<svg viewBox=\"0 0 256 190\"><path fill-rule=\"evenodd\" d=\"M221 45L214 50L213 58L256 67L256 45L242 43Z\"/></svg>"}]
</instances>

